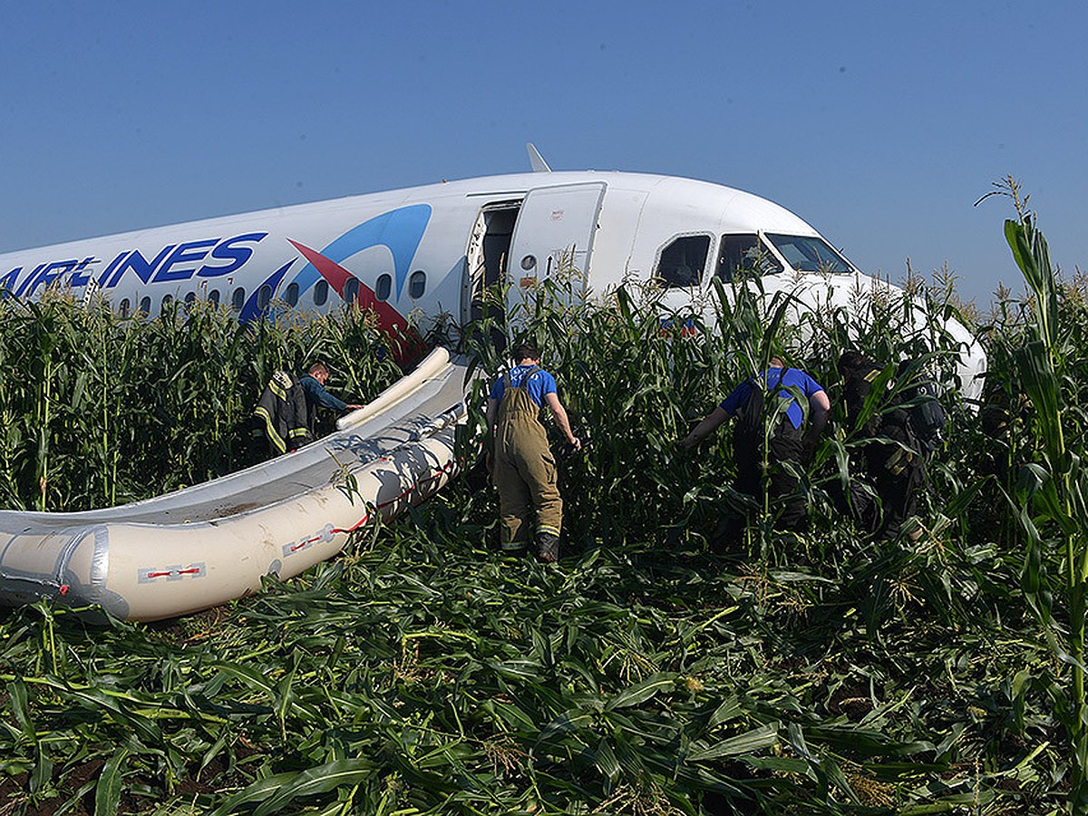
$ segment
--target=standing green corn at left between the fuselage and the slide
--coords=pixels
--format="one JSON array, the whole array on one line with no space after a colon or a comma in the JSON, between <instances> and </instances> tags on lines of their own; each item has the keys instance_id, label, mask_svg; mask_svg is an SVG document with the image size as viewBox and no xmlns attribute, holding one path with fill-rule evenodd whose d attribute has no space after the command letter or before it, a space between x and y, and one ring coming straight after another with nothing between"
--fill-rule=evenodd
<instances>
[{"instance_id":1,"label":"standing green corn at left between the fuselage and the slide","mask_svg":"<svg viewBox=\"0 0 1088 816\"><path fill-rule=\"evenodd\" d=\"M317 359L350 401L400 374L357 310L242 325L206 302L147 320L63 295L0 300L0 502L89 509L237 470L272 372Z\"/></svg>"}]
</instances>

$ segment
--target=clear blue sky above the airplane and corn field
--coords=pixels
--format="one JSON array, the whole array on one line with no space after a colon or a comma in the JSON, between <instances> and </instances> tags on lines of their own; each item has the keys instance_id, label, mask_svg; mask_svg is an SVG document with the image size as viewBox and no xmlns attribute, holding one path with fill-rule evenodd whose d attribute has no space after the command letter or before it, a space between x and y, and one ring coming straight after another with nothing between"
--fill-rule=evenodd
<instances>
[{"instance_id":1,"label":"clear blue sky above the airplane and corn field","mask_svg":"<svg viewBox=\"0 0 1088 816\"><path fill-rule=\"evenodd\" d=\"M1033 8L1033 5L1035 8ZM528 169L740 187L868 272L1088 270L1088 2L0 0L0 251Z\"/></svg>"}]
</instances>

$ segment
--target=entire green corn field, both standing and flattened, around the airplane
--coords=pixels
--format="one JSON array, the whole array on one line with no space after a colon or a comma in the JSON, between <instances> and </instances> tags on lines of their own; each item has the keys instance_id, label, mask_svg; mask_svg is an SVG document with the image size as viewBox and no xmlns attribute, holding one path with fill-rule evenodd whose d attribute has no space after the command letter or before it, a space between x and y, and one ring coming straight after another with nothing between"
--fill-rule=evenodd
<instances>
[{"instance_id":1,"label":"entire green corn field, both standing and flattened, around the airplane","mask_svg":"<svg viewBox=\"0 0 1088 816\"><path fill-rule=\"evenodd\" d=\"M645 293L544 290L549 308L511 317L590 441L560 467L558 565L498 548L478 467L203 615L3 613L0 816L1083 813L1088 290L1042 262L1014 201L1029 293L974 317L990 375L980 405L947 395L917 540L878 543L832 509L858 444L841 406L803 481L808 532L757 519L728 555L707 539L729 434L677 442L771 354L834 406L840 351L950 371L939 330L906 331L879 298L865 320L799 325L721 287L664 321ZM950 279L908 292L963 313ZM237 467L276 368L321 357L359 397L397 376L354 313L245 329L215 310L0 307L8 507L104 506ZM489 372L494 330L465 339Z\"/></svg>"}]
</instances>

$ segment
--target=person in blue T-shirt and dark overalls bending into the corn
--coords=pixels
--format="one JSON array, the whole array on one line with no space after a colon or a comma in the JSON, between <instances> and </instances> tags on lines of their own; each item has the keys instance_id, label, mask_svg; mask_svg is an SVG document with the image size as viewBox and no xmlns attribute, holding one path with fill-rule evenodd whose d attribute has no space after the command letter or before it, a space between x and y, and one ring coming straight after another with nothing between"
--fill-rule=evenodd
<instances>
[{"instance_id":1,"label":"person in blue T-shirt and dark overalls bending into the corn","mask_svg":"<svg viewBox=\"0 0 1088 816\"><path fill-rule=\"evenodd\" d=\"M789 388L799 388L808 403L808 430L805 431L805 412ZM768 405L768 397L781 400ZM770 418L764 412L776 409ZM738 385L717 408L708 413L688 436L680 441L685 450L709 436L719 425L737 418L733 426L733 454L737 457L737 480L733 489L749 497L744 508L728 508L722 514L718 532L710 541L712 549L735 546L741 541L751 516L751 507L763 487L764 423L775 422L769 430L767 450L767 495L779 504L775 519L779 530L803 530L807 522L807 504L798 487L800 479L791 472L812 458L816 441L827 425L831 408L824 386L796 368L788 368L781 357L770 358L770 366L756 376ZM777 417L777 419L776 419Z\"/></svg>"}]
</instances>

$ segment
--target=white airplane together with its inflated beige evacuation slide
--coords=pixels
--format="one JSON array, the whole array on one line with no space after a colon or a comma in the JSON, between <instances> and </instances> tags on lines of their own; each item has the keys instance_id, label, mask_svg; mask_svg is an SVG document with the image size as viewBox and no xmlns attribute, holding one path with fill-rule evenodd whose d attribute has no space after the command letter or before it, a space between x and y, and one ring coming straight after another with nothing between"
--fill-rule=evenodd
<instances>
[{"instance_id":1,"label":"white airplane together with its inflated beige evacuation slide","mask_svg":"<svg viewBox=\"0 0 1088 816\"><path fill-rule=\"evenodd\" d=\"M802 306L849 306L858 292L889 288L750 193L664 175L553 172L535 148L529 153L530 173L0 255L0 297L58 289L104 298L122 317L201 299L242 321L359 304L410 336L426 321L469 323L496 283L508 284L516 316L528 293L571 269L582 273L568 279L576 297L635 282L667 310L708 300L716 279L749 285L753 259L767 294L790 293ZM961 391L977 394L986 356L960 323L944 329L959 346ZM158 620L258 592L268 574L297 576L456 472L471 375L462 356L440 346L296 452L120 507L0 510L0 605L48 597Z\"/></svg>"}]
</instances>

